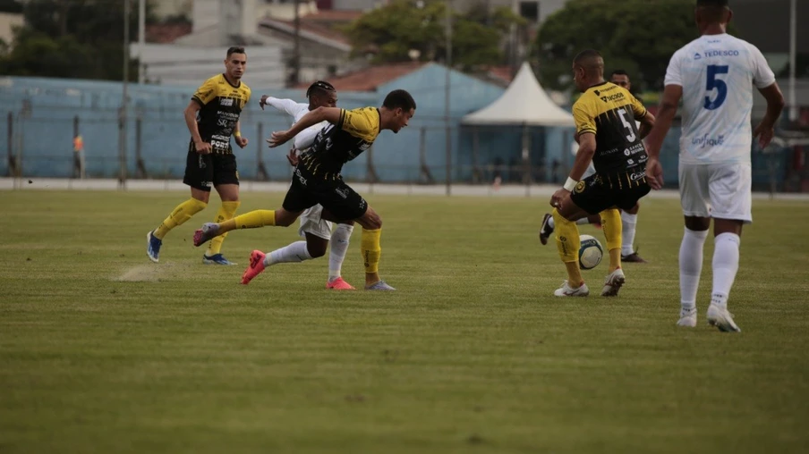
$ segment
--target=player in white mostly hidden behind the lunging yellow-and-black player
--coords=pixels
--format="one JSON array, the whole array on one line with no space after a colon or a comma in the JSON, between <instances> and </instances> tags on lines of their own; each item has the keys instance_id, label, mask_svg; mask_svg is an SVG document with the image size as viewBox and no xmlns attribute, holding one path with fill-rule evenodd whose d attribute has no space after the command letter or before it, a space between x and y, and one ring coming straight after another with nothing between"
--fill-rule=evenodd
<instances>
[{"instance_id":1,"label":"player in white mostly hidden behind the lunging yellow-and-black player","mask_svg":"<svg viewBox=\"0 0 809 454\"><path fill-rule=\"evenodd\" d=\"M334 107L337 103L337 92L328 82L319 80L306 90L306 97L309 104L296 103L292 99L278 99L264 95L261 97L259 105L264 109L264 105L272 105L281 112L291 115L294 122L298 122L301 117L318 107ZM328 125L328 122L320 122L306 130L303 130L295 137L294 149L289 152L286 158L293 166L297 164L298 155L306 148L311 147L311 143L317 137L318 132ZM345 253L348 250L348 242L353 231L353 222L338 223L332 230L332 225L323 219L323 206L315 205L301 214L301 227L298 233L306 241L295 241L284 248L276 249L267 256L270 257L270 264L281 264L289 262L302 262L326 255L329 239L331 248L328 255L328 280L326 288L332 290L354 290L353 286L345 282L341 276ZM247 282L243 282L247 283Z\"/></svg>"}]
</instances>

